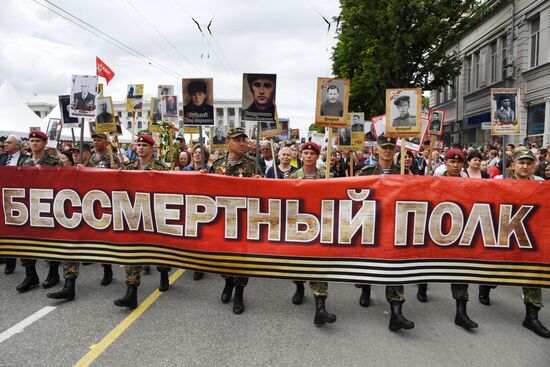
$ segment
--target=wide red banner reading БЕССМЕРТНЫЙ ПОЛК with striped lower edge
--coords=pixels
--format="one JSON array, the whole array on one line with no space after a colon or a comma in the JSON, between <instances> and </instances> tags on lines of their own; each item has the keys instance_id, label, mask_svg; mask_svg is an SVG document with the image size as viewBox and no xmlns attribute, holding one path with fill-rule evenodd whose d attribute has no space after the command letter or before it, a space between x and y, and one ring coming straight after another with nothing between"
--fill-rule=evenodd
<instances>
[{"instance_id":1,"label":"wide red banner reading \u0411\u0415\u0421\u0421\u041c\u0415\u0420\u0422\u041d\u042b\u0419 \u041f\u041e\u041b\u041a with striped lower edge","mask_svg":"<svg viewBox=\"0 0 550 367\"><path fill-rule=\"evenodd\" d=\"M550 183L1 167L0 257L550 287Z\"/></svg>"}]
</instances>

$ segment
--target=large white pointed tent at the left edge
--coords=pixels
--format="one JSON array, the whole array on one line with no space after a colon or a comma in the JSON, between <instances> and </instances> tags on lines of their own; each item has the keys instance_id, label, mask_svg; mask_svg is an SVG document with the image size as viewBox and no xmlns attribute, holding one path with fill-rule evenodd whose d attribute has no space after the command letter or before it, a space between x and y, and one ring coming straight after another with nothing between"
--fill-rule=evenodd
<instances>
[{"instance_id":1,"label":"large white pointed tent at the left edge","mask_svg":"<svg viewBox=\"0 0 550 367\"><path fill-rule=\"evenodd\" d=\"M42 119L23 102L13 86L4 81L0 86L0 135L27 137L31 127L46 130L42 128Z\"/></svg>"}]
</instances>

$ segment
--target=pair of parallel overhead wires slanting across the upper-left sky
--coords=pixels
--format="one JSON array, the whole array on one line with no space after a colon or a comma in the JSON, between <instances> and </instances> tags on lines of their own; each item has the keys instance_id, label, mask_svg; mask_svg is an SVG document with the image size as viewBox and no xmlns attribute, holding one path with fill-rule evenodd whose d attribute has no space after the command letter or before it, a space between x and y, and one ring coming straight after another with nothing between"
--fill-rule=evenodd
<instances>
[{"instance_id":1,"label":"pair of parallel overhead wires slanting across the upper-left sky","mask_svg":"<svg viewBox=\"0 0 550 367\"><path fill-rule=\"evenodd\" d=\"M40 5L40 6L44 7L45 9L49 10L50 12L57 14L61 18L64 18L65 20L73 23L74 25L78 26L79 28L82 28L83 30L91 33L92 35L104 40L105 42L111 44L112 46L114 46L114 47L130 54L131 56L136 57L137 59L140 59L141 61L144 61L148 65L150 65L150 66L152 66L152 67L154 67L154 68L156 68L156 69L158 69L158 70L160 70L160 71L162 71L166 74L169 74L171 76L180 78L180 76L178 74L176 74L175 72L170 70L168 67L166 67L166 66L150 59L149 57L147 57L143 53L135 50L134 48L126 45L125 43L118 41L117 39L111 37L107 33L97 29L96 27L94 27L90 23L88 23L88 22L80 19L79 17L69 13L68 11L62 9L61 7L59 7L56 4L52 3L51 1L44 0L46 3L54 6L55 8L59 9L61 12L67 14L68 16L60 13L59 11L57 11L55 9L52 9L52 8L48 7L46 4L43 4L43 3L39 2L38 0L32 0L32 1L35 2L36 4ZM80 22L80 23L76 22L75 19L78 20L78 22ZM86 25L88 28L84 25Z\"/></svg>"}]
</instances>

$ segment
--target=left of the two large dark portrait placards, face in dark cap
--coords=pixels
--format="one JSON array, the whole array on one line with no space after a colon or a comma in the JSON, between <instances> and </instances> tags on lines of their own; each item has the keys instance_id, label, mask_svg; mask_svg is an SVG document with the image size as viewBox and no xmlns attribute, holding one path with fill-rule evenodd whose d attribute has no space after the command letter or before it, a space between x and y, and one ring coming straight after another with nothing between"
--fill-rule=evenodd
<instances>
[{"instance_id":1,"label":"left of the two large dark portrait placards, face in dark cap","mask_svg":"<svg viewBox=\"0 0 550 367\"><path fill-rule=\"evenodd\" d=\"M182 79L183 124L214 126L214 80Z\"/></svg>"}]
</instances>

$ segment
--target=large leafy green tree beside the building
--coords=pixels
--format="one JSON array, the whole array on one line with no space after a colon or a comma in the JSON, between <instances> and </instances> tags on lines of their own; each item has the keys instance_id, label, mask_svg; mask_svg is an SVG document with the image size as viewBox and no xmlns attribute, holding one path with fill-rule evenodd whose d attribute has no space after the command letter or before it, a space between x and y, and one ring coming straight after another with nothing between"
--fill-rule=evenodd
<instances>
[{"instance_id":1,"label":"large leafy green tree beside the building","mask_svg":"<svg viewBox=\"0 0 550 367\"><path fill-rule=\"evenodd\" d=\"M486 14L480 0L340 0L336 76L351 79L350 110L385 113L387 88L434 90L460 75L451 47Z\"/></svg>"}]
</instances>

